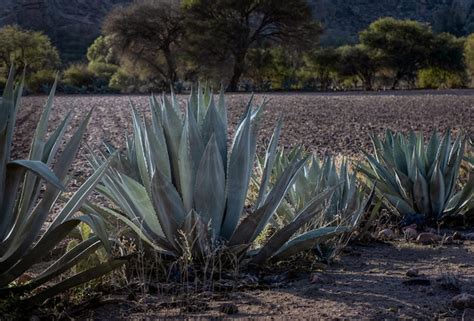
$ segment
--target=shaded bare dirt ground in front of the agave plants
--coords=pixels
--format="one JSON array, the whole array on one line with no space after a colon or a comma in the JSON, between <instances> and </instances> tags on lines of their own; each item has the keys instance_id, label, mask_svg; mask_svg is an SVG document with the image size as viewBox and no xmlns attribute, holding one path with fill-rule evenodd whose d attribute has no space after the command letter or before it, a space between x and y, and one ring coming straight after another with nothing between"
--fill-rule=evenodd
<instances>
[{"instance_id":1,"label":"shaded bare dirt ground in front of the agave plants","mask_svg":"<svg viewBox=\"0 0 474 321\"><path fill-rule=\"evenodd\" d=\"M462 310L451 307L452 297L460 292L474 293L473 251L474 242L449 246L405 241L352 245L333 265L315 268L313 273L297 272L266 289L212 293L184 307L170 304L172 297L167 294L138 295L135 300L126 294L105 296L91 309L86 305L63 316L70 313L69 317L96 320L456 320L461 318ZM418 269L419 276L408 277L410 269ZM235 314L222 312L223 306L230 304L237 308Z\"/></svg>"}]
</instances>

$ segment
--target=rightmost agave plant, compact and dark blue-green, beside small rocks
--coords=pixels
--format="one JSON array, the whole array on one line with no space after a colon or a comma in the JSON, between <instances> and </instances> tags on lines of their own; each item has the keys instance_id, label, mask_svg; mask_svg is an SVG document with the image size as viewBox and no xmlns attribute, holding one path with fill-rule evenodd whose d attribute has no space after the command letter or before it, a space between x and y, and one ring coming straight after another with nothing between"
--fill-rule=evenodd
<instances>
[{"instance_id":1,"label":"rightmost agave plant, compact and dark blue-green, beside small rocks","mask_svg":"<svg viewBox=\"0 0 474 321\"><path fill-rule=\"evenodd\" d=\"M464 214L474 205L474 176L457 186L466 138L452 142L451 132L434 132L425 144L421 133L407 136L386 131L385 139L373 135L375 154L366 153L367 165L359 170L377 187L406 223L439 222L447 215Z\"/></svg>"}]
</instances>

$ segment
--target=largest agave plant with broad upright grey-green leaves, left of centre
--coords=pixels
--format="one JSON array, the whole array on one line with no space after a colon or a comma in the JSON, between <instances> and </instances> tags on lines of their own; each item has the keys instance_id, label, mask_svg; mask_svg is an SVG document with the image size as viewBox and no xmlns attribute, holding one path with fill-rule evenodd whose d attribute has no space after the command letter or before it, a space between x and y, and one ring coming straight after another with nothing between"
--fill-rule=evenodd
<instances>
[{"instance_id":1,"label":"largest agave plant with broad upright grey-green leaves, left of centre","mask_svg":"<svg viewBox=\"0 0 474 321\"><path fill-rule=\"evenodd\" d=\"M252 99L227 146L227 107L221 91L217 104L209 90L193 91L181 112L174 94L161 101L150 98L151 124L132 105L133 135L98 190L115 207L93 205L100 214L127 224L155 249L173 255L191 244L195 257L224 245L243 257L271 220L306 159L296 155L267 189L281 130L281 120L269 142L258 204L245 207L257 149L259 123L265 102ZM110 152L115 152L113 149ZM102 164L91 159L94 167ZM317 213L332 189L314 195L288 225L257 251L259 262L300 245L292 235ZM245 213L247 212L247 215ZM314 240L337 231L327 228L308 235ZM184 238L184 240L183 240ZM186 242L185 242L186 241Z\"/></svg>"}]
</instances>

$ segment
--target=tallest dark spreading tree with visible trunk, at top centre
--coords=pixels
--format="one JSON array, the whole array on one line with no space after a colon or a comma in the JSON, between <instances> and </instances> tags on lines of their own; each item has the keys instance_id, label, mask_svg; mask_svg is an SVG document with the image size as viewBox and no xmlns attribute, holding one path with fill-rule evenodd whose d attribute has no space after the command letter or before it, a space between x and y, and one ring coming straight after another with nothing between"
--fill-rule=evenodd
<instances>
[{"instance_id":1,"label":"tallest dark spreading tree with visible trunk, at top centre","mask_svg":"<svg viewBox=\"0 0 474 321\"><path fill-rule=\"evenodd\" d=\"M187 0L184 8L190 52L198 64L230 63L231 91L238 89L249 49L283 41L307 46L321 30L306 0Z\"/></svg>"}]
</instances>

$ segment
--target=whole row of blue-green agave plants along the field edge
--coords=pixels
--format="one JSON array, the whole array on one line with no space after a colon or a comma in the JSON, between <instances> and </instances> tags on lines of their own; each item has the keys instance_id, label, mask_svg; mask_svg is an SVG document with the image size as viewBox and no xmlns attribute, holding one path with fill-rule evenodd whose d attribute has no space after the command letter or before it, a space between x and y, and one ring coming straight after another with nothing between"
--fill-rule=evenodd
<instances>
[{"instance_id":1,"label":"whole row of blue-green agave plants along the field edge","mask_svg":"<svg viewBox=\"0 0 474 321\"><path fill-rule=\"evenodd\" d=\"M184 111L174 94L152 96L151 122L132 105L133 134L125 150L106 145L103 153L90 152L93 174L65 199L91 113L65 145L71 114L46 138L53 86L28 159L11 160L21 83L15 90L12 72L0 106L0 296L28 293L29 300L41 302L126 263L128 257L113 252L117 237L107 222L121 222L166 257L187 254L199 264L219 251L258 267L308 250L330 260L358 229L374 197L404 217L419 214L429 222L472 214L472 162L465 186L457 184L465 136L451 143L449 133L443 139L434 134L427 145L413 133L406 138L388 132L383 141L374 136L375 154L353 171L347 160L338 168L334 158L279 148L280 117L260 158L257 137L267 102L254 106L250 99L229 146L224 93L216 102L202 89L191 93ZM88 201L93 191L106 202ZM92 231L88 237L21 281L80 224ZM68 272L99 248L109 254L101 263Z\"/></svg>"}]
</instances>

